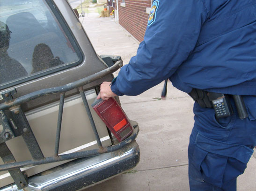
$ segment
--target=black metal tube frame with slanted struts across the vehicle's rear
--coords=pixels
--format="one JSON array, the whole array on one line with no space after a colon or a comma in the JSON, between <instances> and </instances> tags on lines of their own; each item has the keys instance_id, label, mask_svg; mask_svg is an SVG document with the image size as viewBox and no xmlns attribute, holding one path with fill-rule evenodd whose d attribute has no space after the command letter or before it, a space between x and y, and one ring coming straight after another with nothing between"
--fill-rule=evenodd
<instances>
[{"instance_id":1,"label":"black metal tube frame with slanted struts across the vehicle's rear","mask_svg":"<svg viewBox=\"0 0 256 191\"><path fill-rule=\"evenodd\" d=\"M100 138L98 136L93 118L90 113L90 109L88 106L88 102L86 100L86 96L84 94L84 91L82 87L88 83L94 82L95 80L98 80L106 75L112 74L114 71L116 71L118 68L120 68L123 65L123 61L119 60L117 61L113 66L110 68L106 68L100 72L95 73L94 75L89 75L88 77L85 77L83 79L80 79L75 82L71 82L69 84L55 87L55 88L49 88L49 89L42 89L38 90L32 93L29 93L27 95L21 96L13 100L12 102L5 102L0 104L0 110L5 110L5 109L10 109L12 107L18 106L22 103L37 99L38 97L41 96L48 96L52 94L59 94L60 93L60 103L59 103L59 116L58 116L58 123L57 123L57 133L56 133L56 142L55 142L55 150L54 150L54 156L53 157L44 157L43 159L39 160L28 160L28 161L22 161L22 162L14 162L14 163L8 163L8 164L2 164L0 165L0 171L9 171L13 169L20 169L23 167L29 167L29 166L34 166L34 165L40 165L40 164L48 164L48 163L54 163L54 162L59 162L59 161L64 161L64 160L70 160L70 159L76 159L76 158L82 158L82 157L89 157L89 156L95 156L95 155L100 155L102 153L107 153L107 152L112 152L121 149L122 147L128 145L129 143L134 140L139 132L139 127L136 126L134 127L134 130L132 132L132 135L126 138L124 141L110 146L110 147L102 147L102 143L100 141ZM95 133L95 138L97 140L99 149L94 149L94 150L86 150L86 151L80 151L80 152L75 152L75 153L70 153L70 154L63 154L63 155L58 155L59 153L59 139L60 139L60 130L61 130L61 122L62 122L62 113L63 113L63 105L64 105L64 96L65 92L78 88L80 91L80 95L82 97L85 109L87 110L90 123L92 125L92 129L94 130Z\"/></svg>"}]
</instances>

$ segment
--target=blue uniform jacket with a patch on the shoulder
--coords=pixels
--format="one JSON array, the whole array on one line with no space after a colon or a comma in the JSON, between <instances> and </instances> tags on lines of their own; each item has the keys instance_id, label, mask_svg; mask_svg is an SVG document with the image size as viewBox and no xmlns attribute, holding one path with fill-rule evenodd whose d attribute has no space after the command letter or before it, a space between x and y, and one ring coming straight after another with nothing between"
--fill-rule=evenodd
<instances>
[{"instance_id":1,"label":"blue uniform jacket with a patch on the shoulder","mask_svg":"<svg viewBox=\"0 0 256 191\"><path fill-rule=\"evenodd\" d=\"M154 0L144 41L111 89L136 96L167 78L187 93L256 95L256 0Z\"/></svg>"}]
</instances>

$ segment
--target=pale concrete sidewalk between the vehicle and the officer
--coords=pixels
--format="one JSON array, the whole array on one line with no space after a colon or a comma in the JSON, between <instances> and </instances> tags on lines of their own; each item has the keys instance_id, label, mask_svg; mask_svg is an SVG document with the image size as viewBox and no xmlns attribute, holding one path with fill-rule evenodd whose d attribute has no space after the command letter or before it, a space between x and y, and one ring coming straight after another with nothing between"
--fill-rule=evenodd
<instances>
[{"instance_id":1,"label":"pale concrete sidewalk between the vehicle and the officer","mask_svg":"<svg viewBox=\"0 0 256 191\"><path fill-rule=\"evenodd\" d=\"M80 18L98 55L121 55L124 64L136 55L139 42L113 18L87 14ZM117 72L115 73L117 75ZM193 126L193 100L168 83L135 97L120 97L127 116L139 123L137 142L141 157L129 173L97 184L86 191L189 191L187 148ZM256 191L256 158L238 178L238 191Z\"/></svg>"}]
</instances>

